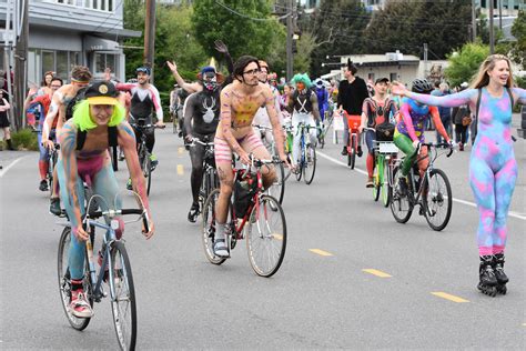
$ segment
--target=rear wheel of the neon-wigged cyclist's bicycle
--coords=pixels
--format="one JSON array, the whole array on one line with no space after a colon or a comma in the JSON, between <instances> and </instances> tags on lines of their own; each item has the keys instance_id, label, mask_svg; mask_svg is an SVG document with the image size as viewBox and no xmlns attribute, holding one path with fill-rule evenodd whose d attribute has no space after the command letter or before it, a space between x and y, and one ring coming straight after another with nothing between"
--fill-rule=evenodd
<instances>
[{"instance_id":1,"label":"rear wheel of the neon-wigged cyclist's bicycle","mask_svg":"<svg viewBox=\"0 0 526 351\"><path fill-rule=\"evenodd\" d=\"M90 323L91 318L77 318L70 311L71 302L71 278L68 267L68 259L70 255L71 243L71 228L67 227L62 231L59 240L59 255L58 255L58 277L59 277L59 292L62 308L68 318L68 322L77 330L84 330ZM89 273L84 272L84 292L87 293L90 305L93 307L92 287Z\"/></svg>"}]
</instances>

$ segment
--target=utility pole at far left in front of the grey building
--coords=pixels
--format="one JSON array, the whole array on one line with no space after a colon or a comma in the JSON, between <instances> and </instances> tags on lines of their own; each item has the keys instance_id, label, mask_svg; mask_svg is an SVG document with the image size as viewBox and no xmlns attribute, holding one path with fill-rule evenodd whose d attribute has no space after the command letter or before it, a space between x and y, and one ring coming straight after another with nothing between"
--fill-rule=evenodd
<instances>
[{"instance_id":1,"label":"utility pole at far left in front of the grey building","mask_svg":"<svg viewBox=\"0 0 526 351\"><path fill-rule=\"evenodd\" d=\"M22 0L21 13L17 13L20 37L14 49L14 94L13 112L14 129L19 130L26 124L23 102L28 81L28 41L29 41L29 0ZM16 33L18 34L18 33Z\"/></svg>"}]
</instances>

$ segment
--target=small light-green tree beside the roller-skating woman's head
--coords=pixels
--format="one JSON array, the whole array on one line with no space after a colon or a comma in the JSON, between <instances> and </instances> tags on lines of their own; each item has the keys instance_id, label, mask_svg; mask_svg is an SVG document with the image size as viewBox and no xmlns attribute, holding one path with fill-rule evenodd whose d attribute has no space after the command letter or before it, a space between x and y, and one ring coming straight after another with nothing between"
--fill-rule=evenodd
<instances>
[{"instance_id":1,"label":"small light-green tree beside the roller-skating woman's head","mask_svg":"<svg viewBox=\"0 0 526 351\"><path fill-rule=\"evenodd\" d=\"M466 43L458 52L449 54L449 64L445 70L445 76L452 87L458 87L462 82L469 82L488 54L489 47L481 42Z\"/></svg>"}]
</instances>

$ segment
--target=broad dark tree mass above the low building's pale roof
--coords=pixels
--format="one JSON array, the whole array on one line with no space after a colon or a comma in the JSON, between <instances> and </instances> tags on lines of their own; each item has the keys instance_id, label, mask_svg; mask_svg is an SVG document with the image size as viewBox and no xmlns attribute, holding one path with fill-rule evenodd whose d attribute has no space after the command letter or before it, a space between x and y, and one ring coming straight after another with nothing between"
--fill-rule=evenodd
<instances>
[{"instance_id":1,"label":"broad dark tree mass above the low building's pale roof","mask_svg":"<svg viewBox=\"0 0 526 351\"><path fill-rule=\"evenodd\" d=\"M471 0L387 1L366 29L368 53L399 50L423 56L428 44L431 59L444 59L469 40Z\"/></svg>"}]
</instances>

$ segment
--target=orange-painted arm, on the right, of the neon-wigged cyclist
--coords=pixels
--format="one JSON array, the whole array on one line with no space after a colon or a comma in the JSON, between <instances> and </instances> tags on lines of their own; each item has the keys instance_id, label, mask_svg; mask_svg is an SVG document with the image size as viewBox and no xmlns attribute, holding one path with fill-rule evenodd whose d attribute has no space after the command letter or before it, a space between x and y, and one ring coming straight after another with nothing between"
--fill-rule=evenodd
<instances>
[{"instance_id":1,"label":"orange-painted arm, on the right, of the neon-wigged cyclist","mask_svg":"<svg viewBox=\"0 0 526 351\"><path fill-rule=\"evenodd\" d=\"M128 122L121 122L118 130L118 142L121 150L124 152L124 159L127 160L128 170L132 181L133 191L135 191L144 204L144 210L148 213L149 220L149 232L145 233L143 228L143 234L146 239L150 239L155 232L152 222L152 214L150 212L150 203L148 202L146 187L144 176L139 164L139 157L136 154L135 133ZM141 205L139 203L139 205Z\"/></svg>"}]
</instances>

